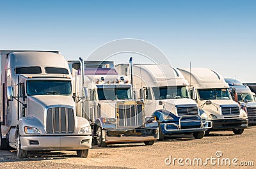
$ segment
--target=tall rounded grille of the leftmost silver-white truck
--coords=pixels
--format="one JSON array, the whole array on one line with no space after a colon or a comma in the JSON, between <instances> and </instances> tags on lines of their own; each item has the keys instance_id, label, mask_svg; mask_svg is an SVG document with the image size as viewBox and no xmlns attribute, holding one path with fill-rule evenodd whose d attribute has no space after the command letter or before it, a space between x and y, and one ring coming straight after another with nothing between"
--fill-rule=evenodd
<instances>
[{"instance_id":1,"label":"tall rounded grille of the leftmost silver-white truck","mask_svg":"<svg viewBox=\"0 0 256 169\"><path fill-rule=\"evenodd\" d=\"M56 107L47 110L47 133L74 133L74 111L72 108Z\"/></svg>"}]
</instances>

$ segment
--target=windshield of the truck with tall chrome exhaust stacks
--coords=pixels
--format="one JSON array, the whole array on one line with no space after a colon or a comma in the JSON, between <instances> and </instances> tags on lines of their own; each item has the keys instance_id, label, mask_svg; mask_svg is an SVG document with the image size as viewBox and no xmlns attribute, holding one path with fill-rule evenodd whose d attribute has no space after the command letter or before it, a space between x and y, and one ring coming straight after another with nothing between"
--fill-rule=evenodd
<instances>
[{"instance_id":1,"label":"windshield of the truck with tall chrome exhaust stacks","mask_svg":"<svg viewBox=\"0 0 256 169\"><path fill-rule=\"evenodd\" d=\"M131 88L98 88L99 100L131 99Z\"/></svg>"}]
</instances>

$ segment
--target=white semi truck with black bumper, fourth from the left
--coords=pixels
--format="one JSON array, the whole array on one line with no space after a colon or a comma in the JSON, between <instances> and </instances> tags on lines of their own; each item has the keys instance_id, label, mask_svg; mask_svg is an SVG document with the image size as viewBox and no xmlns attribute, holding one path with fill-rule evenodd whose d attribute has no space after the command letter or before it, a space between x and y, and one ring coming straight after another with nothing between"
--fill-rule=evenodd
<instances>
[{"instance_id":1,"label":"white semi truck with black bumper, fourth from the left","mask_svg":"<svg viewBox=\"0 0 256 169\"><path fill-rule=\"evenodd\" d=\"M210 131L230 130L241 135L248 126L248 117L232 100L229 85L216 71L208 68L179 68L189 84L191 96L212 121Z\"/></svg>"}]
</instances>

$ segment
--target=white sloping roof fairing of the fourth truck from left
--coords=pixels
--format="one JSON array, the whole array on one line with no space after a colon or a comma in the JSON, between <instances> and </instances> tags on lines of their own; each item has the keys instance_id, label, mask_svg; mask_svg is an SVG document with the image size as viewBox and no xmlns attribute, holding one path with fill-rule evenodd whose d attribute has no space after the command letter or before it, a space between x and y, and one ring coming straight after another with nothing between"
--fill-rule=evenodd
<instances>
[{"instance_id":1,"label":"white sloping roof fairing of the fourth truck from left","mask_svg":"<svg viewBox=\"0 0 256 169\"><path fill-rule=\"evenodd\" d=\"M229 85L225 82L220 73L209 68L178 68L184 75L189 84L198 89L209 88L228 88Z\"/></svg>"}]
</instances>

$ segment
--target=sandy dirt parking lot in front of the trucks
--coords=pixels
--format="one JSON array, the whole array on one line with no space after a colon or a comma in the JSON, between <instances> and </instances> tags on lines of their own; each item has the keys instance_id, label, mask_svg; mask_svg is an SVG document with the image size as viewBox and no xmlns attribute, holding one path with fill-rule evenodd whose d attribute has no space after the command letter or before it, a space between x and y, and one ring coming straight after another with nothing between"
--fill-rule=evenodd
<instances>
[{"instance_id":1,"label":"sandy dirt parking lot in front of the trucks","mask_svg":"<svg viewBox=\"0 0 256 169\"><path fill-rule=\"evenodd\" d=\"M76 153L70 151L31 153L28 159L18 159L15 151L0 151L0 166L1 168L255 168L255 153L256 127L250 127L242 135L234 135L232 131L220 131L212 132L210 136L205 136L201 140L195 140L189 135L172 136L152 146L133 143L99 148L93 145L86 159L76 158Z\"/></svg>"}]
</instances>

